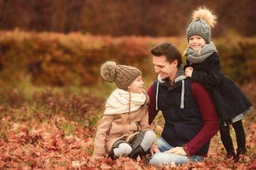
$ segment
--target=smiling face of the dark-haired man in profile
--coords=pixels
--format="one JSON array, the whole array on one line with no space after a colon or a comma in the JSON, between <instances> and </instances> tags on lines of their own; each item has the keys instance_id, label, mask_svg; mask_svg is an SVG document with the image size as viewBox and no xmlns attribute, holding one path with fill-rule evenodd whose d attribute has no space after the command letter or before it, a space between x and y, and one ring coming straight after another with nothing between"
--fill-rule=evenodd
<instances>
[{"instance_id":1,"label":"smiling face of the dark-haired man in profile","mask_svg":"<svg viewBox=\"0 0 256 170\"><path fill-rule=\"evenodd\" d=\"M165 55L154 56L153 55L153 64L154 64L154 72L160 75L161 79L166 79L167 77L175 77L175 73L177 72L177 64L178 61L169 61L166 60Z\"/></svg>"}]
</instances>

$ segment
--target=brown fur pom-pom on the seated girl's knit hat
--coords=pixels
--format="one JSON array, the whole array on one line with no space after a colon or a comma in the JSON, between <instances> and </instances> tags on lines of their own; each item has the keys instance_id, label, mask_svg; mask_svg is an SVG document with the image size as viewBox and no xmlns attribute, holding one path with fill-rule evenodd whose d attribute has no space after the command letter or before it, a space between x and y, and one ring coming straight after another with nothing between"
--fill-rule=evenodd
<instances>
[{"instance_id":1,"label":"brown fur pom-pom on the seated girl's knit hat","mask_svg":"<svg viewBox=\"0 0 256 170\"><path fill-rule=\"evenodd\" d=\"M106 61L100 67L100 74L108 82L114 82L117 64L114 61Z\"/></svg>"}]
</instances>

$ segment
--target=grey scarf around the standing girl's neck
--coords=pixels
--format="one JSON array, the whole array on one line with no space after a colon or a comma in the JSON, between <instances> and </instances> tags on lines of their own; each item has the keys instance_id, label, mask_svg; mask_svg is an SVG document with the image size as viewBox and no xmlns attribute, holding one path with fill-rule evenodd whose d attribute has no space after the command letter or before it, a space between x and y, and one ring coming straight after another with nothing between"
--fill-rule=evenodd
<instances>
[{"instance_id":1,"label":"grey scarf around the standing girl's neck","mask_svg":"<svg viewBox=\"0 0 256 170\"><path fill-rule=\"evenodd\" d=\"M214 52L217 52L217 49L215 44L211 41L202 47L200 53L199 50L195 51L194 49L187 48L186 56L190 64L198 64L205 61L206 58L209 58Z\"/></svg>"}]
</instances>

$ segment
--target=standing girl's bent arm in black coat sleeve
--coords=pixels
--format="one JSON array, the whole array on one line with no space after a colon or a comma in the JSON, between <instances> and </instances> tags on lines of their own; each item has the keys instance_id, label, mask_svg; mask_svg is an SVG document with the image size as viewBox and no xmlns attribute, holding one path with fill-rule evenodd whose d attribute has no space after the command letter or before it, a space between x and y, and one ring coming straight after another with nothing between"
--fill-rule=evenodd
<instances>
[{"instance_id":1,"label":"standing girl's bent arm in black coat sleeve","mask_svg":"<svg viewBox=\"0 0 256 170\"><path fill-rule=\"evenodd\" d=\"M208 65L209 72L193 70L191 80L200 82L203 85L218 85L221 82L221 64L218 55L212 56Z\"/></svg>"}]
</instances>

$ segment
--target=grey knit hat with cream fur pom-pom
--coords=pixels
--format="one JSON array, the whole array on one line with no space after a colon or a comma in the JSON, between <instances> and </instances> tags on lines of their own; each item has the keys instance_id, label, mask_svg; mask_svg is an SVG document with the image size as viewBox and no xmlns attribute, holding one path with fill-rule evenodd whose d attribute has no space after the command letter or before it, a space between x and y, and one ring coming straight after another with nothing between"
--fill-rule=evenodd
<instances>
[{"instance_id":1,"label":"grey knit hat with cream fur pom-pom","mask_svg":"<svg viewBox=\"0 0 256 170\"><path fill-rule=\"evenodd\" d=\"M209 43L211 40L211 27L216 24L217 16L212 14L206 7L200 7L195 10L192 16L192 22L187 27L187 42L193 35L199 35Z\"/></svg>"}]
</instances>

